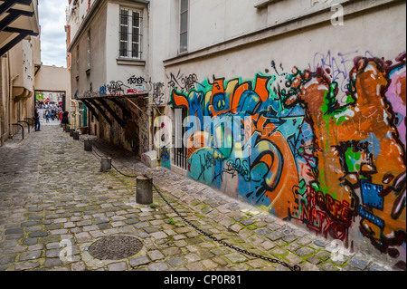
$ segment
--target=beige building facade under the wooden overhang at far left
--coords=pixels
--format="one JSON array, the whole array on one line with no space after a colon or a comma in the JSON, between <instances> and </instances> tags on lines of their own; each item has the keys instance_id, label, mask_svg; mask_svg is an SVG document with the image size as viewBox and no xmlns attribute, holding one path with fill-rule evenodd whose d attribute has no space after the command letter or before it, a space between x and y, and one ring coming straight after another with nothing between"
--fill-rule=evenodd
<instances>
[{"instance_id":1,"label":"beige building facade under the wooden overhang at far left","mask_svg":"<svg viewBox=\"0 0 407 289\"><path fill-rule=\"evenodd\" d=\"M33 124L34 74L41 65L37 5L0 1L0 146Z\"/></svg>"}]
</instances>

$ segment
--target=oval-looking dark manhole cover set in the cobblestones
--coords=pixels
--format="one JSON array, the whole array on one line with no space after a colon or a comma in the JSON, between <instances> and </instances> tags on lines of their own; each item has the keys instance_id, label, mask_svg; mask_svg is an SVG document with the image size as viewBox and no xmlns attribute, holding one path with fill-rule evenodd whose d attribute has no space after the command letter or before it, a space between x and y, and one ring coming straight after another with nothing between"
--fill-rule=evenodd
<instances>
[{"instance_id":1,"label":"oval-looking dark manhole cover set in the cobblestones","mask_svg":"<svg viewBox=\"0 0 407 289\"><path fill-rule=\"evenodd\" d=\"M99 260L120 260L136 255L143 243L134 236L107 236L89 247L89 254Z\"/></svg>"}]
</instances>

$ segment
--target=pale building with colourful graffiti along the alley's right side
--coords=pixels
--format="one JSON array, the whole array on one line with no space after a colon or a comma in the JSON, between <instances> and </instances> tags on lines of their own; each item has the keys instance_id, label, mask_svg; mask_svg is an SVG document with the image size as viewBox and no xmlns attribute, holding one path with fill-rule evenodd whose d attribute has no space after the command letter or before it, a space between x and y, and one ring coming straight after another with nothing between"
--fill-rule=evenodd
<instances>
[{"instance_id":1,"label":"pale building with colourful graffiti along the alley's right side","mask_svg":"<svg viewBox=\"0 0 407 289\"><path fill-rule=\"evenodd\" d=\"M72 95L148 163L405 268L405 6L95 0Z\"/></svg>"}]
</instances>

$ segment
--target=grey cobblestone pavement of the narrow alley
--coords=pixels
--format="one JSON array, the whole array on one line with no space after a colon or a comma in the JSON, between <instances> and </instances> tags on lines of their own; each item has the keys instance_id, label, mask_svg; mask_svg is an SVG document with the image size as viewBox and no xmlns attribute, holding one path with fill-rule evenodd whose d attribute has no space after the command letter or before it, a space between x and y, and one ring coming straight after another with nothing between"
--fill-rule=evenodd
<instances>
[{"instance_id":1,"label":"grey cobblestone pavement of the narrow alley","mask_svg":"<svg viewBox=\"0 0 407 289\"><path fill-rule=\"evenodd\" d=\"M323 238L167 169L147 169L132 153L92 139L94 151L87 152L60 126L42 125L0 148L0 270L289 270L201 235L156 193L154 206L138 205L135 178L100 172L95 152L125 174L154 178L182 216L232 246L302 271L392 270L366 255L338 259ZM125 259L93 258L90 246L106 236L135 236L143 247Z\"/></svg>"}]
</instances>

